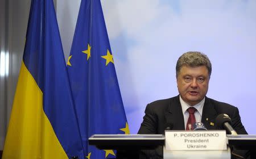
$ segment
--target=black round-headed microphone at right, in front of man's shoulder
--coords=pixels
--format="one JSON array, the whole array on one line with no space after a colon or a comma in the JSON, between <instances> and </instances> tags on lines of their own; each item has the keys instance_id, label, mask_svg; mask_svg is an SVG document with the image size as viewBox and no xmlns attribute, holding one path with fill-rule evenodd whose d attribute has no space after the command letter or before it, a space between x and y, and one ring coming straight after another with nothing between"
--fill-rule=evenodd
<instances>
[{"instance_id":1,"label":"black round-headed microphone at right, in front of man's shoulder","mask_svg":"<svg viewBox=\"0 0 256 159\"><path fill-rule=\"evenodd\" d=\"M220 128L226 129L231 135L237 135L237 132L232 128L230 117L227 114L220 114L216 118L216 124Z\"/></svg>"}]
</instances>

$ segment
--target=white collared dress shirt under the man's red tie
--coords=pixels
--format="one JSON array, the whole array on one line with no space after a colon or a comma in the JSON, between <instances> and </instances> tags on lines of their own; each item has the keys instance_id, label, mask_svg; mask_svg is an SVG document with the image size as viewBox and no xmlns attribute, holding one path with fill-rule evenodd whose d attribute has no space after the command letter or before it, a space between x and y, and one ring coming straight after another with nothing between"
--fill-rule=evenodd
<instances>
[{"instance_id":1,"label":"white collared dress shirt under the man's red tie","mask_svg":"<svg viewBox=\"0 0 256 159\"><path fill-rule=\"evenodd\" d=\"M196 108L196 112L195 112L195 118L196 118L196 122L201 122L202 119L202 113L203 113L203 107L204 107L204 101L205 98L200 101L199 103L197 103L195 106ZM180 97L180 104L181 104L181 108L182 108L182 112L183 112L183 117L184 117L184 124L185 124L185 128L187 127L187 122L188 122L188 118L189 118L189 113L187 111L187 109L191 106L189 106L189 104L187 104L186 102L183 101L183 99Z\"/></svg>"}]
</instances>

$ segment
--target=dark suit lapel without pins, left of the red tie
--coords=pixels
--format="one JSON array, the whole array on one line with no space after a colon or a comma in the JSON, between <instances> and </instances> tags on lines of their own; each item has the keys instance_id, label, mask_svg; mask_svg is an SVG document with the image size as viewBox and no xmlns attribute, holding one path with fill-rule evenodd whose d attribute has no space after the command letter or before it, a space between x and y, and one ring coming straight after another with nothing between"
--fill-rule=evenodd
<instances>
[{"instance_id":1,"label":"dark suit lapel without pins, left of the red tie","mask_svg":"<svg viewBox=\"0 0 256 159\"><path fill-rule=\"evenodd\" d=\"M177 97L171 99L168 112L165 114L166 123L172 123L174 127L173 130L184 130L184 118L181 109L179 95Z\"/></svg>"}]
</instances>

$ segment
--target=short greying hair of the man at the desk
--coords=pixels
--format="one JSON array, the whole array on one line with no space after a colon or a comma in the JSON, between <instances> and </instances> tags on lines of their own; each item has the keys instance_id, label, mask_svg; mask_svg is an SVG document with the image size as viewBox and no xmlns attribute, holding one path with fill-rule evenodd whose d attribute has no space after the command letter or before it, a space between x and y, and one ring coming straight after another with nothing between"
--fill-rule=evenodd
<instances>
[{"instance_id":1,"label":"short greying hair of the man at the desk","mask_svg":"<svg viewBox=\"0 0 256 159\"><path fill-rule=\"evenodd\" d=\"M177 60L176 64L176 77L180 72L182 66L189 66L189 67L197 67L197 66L206 66L208 69L209 77L212 73L212 64L210 63L209 58L204 53L198 51L189 51L183 53Z\"/></svg>"}]
</instances>

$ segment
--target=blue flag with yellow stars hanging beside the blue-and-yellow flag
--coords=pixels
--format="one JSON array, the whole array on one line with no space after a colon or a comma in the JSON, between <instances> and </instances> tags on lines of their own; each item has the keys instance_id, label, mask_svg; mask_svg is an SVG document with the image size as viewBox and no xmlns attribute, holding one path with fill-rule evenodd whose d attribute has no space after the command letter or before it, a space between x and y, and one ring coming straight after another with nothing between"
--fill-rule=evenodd
<instances>
[{"instance_id":1,"label":"blue flag with yellow stars hanging beside the blue-and-yellow flag","mask_svg":"<svg viewBox=\"0 0 256 159\"><path fill-rule=\"evenodd\" d=\"M129 133L100 0L81 1L68 74L85 156L115 157L113 150L88 145L96 133Z\"/></svg>"}]
</instances>

